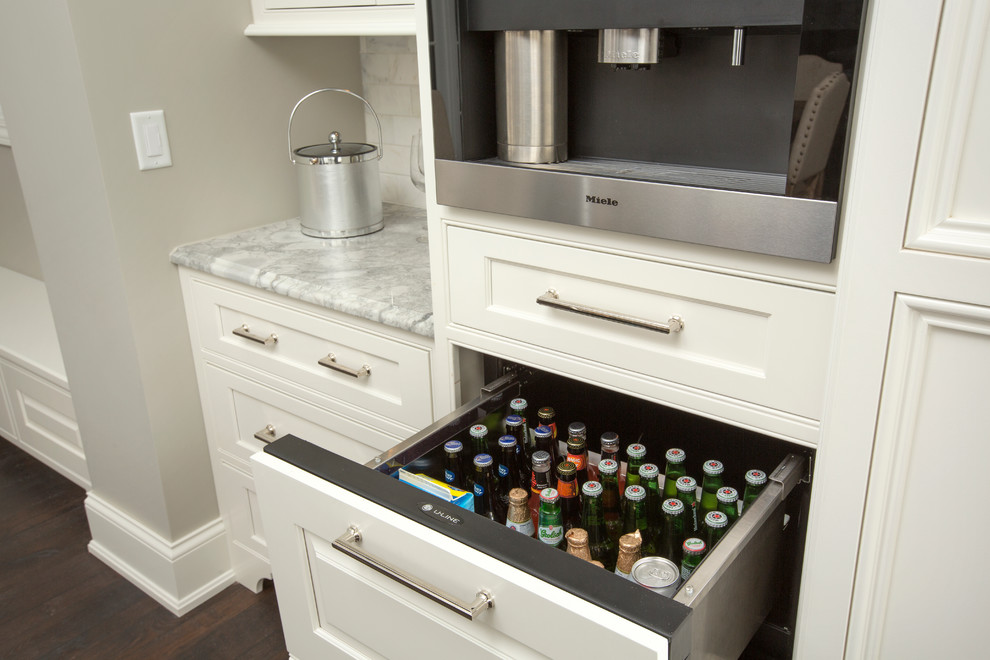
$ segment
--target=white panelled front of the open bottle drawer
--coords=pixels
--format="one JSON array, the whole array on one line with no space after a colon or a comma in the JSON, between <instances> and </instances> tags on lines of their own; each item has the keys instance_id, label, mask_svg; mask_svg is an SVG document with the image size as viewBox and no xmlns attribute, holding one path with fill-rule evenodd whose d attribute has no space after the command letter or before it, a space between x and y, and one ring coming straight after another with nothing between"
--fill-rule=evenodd
<instances>
[{"instance_id":1,"label":"white panelled front of the open bottle drawer","mask_svg":"<svg viewBox=\"0 0 990 660\"><path fill-rule=\"evenodd\" d=\"M267 454L254 462L294 657L668 657L666 639L594 604ZM465 602L487 590L494 607L462 618L334 549L350 526L366 552Z\"/></svg>"}]
</instances>

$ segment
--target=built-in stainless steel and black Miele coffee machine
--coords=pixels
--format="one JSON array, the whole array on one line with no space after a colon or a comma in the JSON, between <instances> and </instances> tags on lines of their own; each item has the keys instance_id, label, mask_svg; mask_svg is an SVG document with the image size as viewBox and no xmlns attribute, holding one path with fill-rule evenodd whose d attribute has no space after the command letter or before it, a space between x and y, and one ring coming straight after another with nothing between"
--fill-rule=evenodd
<instances>
[{"instance_id":1,"label":"built-in stainless steel and black Miele coffee machine","mask_svg":"<svg viewBox=\"0 0 990 660\"><path fill-rule=\"evenodd\" d=\"M431 0L441 204L834 256L862 0Z\"/></svg>"}]
</instances>

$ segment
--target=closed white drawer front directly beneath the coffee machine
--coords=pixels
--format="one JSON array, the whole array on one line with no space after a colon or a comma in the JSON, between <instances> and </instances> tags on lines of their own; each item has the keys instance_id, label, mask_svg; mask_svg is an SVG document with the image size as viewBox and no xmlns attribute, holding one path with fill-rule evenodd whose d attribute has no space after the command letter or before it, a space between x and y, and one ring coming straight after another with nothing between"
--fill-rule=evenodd
<instances>
[{"instance_id":1,"label":"closed white drawer front directly beneath the coffee machine","mask_svg":"<svg viewBox=\"0 0 990 660\"><path fill-rule=\"evenodd\" d=\"M697 390L819 419L833 296L632 257L446 231L455 324ZM561 300L666 324L656 331L540 305Z\"/></svg>"}]
</instances>

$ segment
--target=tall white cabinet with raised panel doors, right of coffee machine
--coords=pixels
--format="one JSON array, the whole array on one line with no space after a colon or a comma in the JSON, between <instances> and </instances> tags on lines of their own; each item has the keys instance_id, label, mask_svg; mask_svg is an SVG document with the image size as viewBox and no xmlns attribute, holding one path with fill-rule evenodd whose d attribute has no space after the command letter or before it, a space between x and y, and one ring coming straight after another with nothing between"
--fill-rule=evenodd
<instances>
[{"instance_id":1,"label":"tall white cabinet with raised panel doors, right of coffee machine","mask_svg":"<svg viewBox=\"0 0 990 660\"><path fill-rule=\"evenodd\" d=\"M795 654L981 657L990 527L967 502L990 458L990 5L868 15Z\"/></svg>"}]
</instances>

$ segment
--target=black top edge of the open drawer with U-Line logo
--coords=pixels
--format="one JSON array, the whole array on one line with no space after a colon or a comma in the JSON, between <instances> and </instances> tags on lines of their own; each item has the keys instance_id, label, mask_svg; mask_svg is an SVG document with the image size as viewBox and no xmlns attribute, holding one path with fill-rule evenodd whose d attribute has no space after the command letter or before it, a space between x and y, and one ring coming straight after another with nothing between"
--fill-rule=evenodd
<instances>
[{"instance_id":1,"label":"black top edge of the open drawer with U-Line logo","mask_svg":"<svg viewBox=\"0 0 990 660\"><path fill-rule=\"evenodd\" d=\"M265 452L662 635L672 646L675 638L690 636L686 625L689 607L628 580L601 579L602 569L597 566L565 552L550 552L536 539L493 524L398 479L292 435L266 445ZM432 513L423 511L424 503L433 505ZM434 515L437 510L450 512L460 522Z\"/></svg>"}]
</instances>

